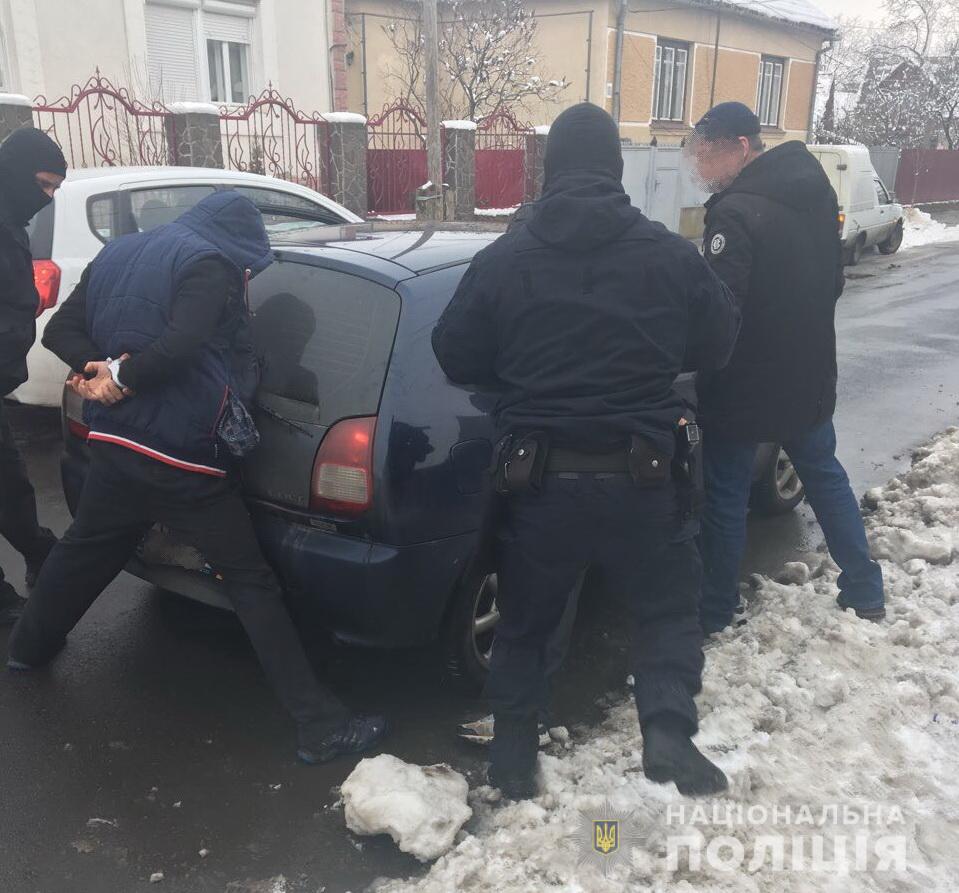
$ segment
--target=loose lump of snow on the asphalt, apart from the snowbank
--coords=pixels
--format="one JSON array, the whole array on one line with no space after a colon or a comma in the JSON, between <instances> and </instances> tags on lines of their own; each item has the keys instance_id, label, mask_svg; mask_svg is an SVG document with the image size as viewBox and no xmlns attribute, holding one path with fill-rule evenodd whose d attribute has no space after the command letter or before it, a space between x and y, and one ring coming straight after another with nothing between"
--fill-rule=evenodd
<instances>
[{"instance_id":1,"label":"loose lump of snow on the asphalt, apart from the snowbank","mask_svg":"<svg viewBox=\"0 0 959 893\"><path fill-rule=\"evenodd\" d=\"M473 814L469 784L445 763L414 766L390 754L359 765L343 782L346 824L355 834L389 834L422 862L443 855Z\"/></svg>"}]
</instances>

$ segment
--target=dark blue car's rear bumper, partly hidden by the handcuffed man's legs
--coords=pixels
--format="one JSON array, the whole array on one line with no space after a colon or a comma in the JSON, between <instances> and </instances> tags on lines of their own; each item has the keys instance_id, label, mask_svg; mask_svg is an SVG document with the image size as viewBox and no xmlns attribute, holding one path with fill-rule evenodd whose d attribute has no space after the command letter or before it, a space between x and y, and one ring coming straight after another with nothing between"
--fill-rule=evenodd
<instances>
[{"instance_id":1,"label":"dark blue car's rear bumper, partly hidden by the handcuffed man's legs","mask_svg":"<svg viewBox=\"0 0 959 893\"><path fill-rule=\"evenodd\" d=\"M79 451L61 471L71 512L86 472ZM449 597L473 556L476 534L410 546L341 536L251 506L264 554L294 603L333 635L375 647L424 645L436 638ZM130 573L171 592L229 608L224 584L211 574L134 559Z\"/></svg>"}]
</instances>

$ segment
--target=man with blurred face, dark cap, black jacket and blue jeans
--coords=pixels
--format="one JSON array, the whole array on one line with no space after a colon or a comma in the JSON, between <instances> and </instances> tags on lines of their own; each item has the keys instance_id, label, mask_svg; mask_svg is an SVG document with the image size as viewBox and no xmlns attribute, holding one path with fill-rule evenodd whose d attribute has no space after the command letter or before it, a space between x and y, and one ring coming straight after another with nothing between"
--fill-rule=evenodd
<instances>
[{"instance_id":1,"label":"man with blurred face, dark cap, black jacket and blue jeans","mask_svg":"<svg viewBox=\"0 0 959 893\"><path fill-rule=\"evenodd\" d=\"M805 485L829 551L842 569L839 605L880 619L882 572L871 560L849 479L836 459L836 300L842 251L836 195L800 142L768 152L759 119L722 103L688 144L715 193L706 203L703 251L743 315L729 365L697 382L704 429L704 630L727 626L738 605L739 567L753 459L781 443Z\"/></svg>"}]
</instances>

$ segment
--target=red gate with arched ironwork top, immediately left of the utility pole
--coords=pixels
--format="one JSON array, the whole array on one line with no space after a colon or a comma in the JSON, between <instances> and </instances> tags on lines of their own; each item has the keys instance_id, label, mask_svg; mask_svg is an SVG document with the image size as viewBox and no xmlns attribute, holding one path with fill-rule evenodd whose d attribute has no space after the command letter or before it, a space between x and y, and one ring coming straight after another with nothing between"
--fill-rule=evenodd
<instances>
[{"instance_id":1,"label":"red gate with arched ironwork top, immediately left of the utility pole","mask_svg":"<svg viewBox=\"0 0 959 893\"><path fill-rule=\"evenodd\" d=\"M427 179L426 119L395 102L366 122L367 196L371 214L411 214Z\"/></svg>"}]
</instances>

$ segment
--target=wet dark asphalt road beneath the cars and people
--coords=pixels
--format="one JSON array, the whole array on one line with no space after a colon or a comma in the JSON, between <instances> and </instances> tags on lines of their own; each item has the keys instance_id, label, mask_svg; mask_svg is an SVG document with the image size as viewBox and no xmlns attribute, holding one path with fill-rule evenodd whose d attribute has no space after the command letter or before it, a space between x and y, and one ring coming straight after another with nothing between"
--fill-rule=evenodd
<instances>
[{"instance_id":1,"label":"wet dark asphalt road beneath the cars and people","mask_svg":"<svg viewBox=\"0 0 959 893\"><path fill-rule=\"evenodd\" d=\"M959 420L959 244L870 256L849 273L837 427L861 492ZM19 411L16 422L42 519L60 533L56 418ZM750 536L746 573L820 544L806 508L752 523ZM5 542L0 562L22 578ZM617 627L613 606L583 607L557 698L567 724L588 725L623 691ZM0 631L0 655L5 642ZM482 705L440 684L435 654L314 652L352 704L391 716L391 753L480 778L481 752L453 730ZM290 723L234 618L121 575L49 672L0 674L0 891L268 891L283 875L290 893L359 893L422 871L388 839L346 831L334 789L351 768L295 763ZM164 879L151 884L155 872Z\"/></svg>"}]
</instances>

